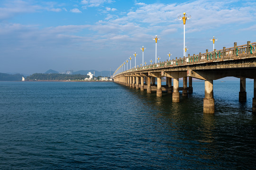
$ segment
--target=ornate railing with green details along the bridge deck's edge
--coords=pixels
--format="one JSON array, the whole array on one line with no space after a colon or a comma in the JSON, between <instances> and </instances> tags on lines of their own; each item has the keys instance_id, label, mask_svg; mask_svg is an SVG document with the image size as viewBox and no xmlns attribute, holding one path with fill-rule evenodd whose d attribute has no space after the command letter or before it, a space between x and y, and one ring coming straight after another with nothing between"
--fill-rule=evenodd
<instances>
[{"instance_id":1,"label":"ornate railing with green details along the bridge deck's edge","mask_svg":"<svg viewBox=\"0 0 256 170\"><path fill-rule=\"evenodd\" d=\"M185 66L185 65L194 65L194 64L200 64L200 63L206 63L206 62L218 62L223 60L229 60L229 59L242 59L247 58L250 54L256 53L256 42L250 43L247 42L245 45L237 46L237 43L234 43L234 47L231 48L225 48L223 47L222 50L214 50L211 52L208 52L206 50L205 53L201 52L198 55L193 54L193 56L184 57L180 59L172 59L167 60L160 63L155 63L151 65L146 65L143 67L137 67L132 68L126 71L123 71L119 74L123 73L131 73L141 70L150 70L154 68L166 68L166 67L178 67L178 66ZM114 76L117 76L119 74L116 74Z\"/></svg>"}]
</instances>

